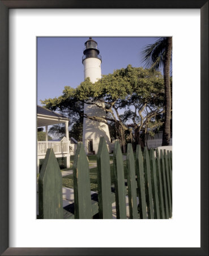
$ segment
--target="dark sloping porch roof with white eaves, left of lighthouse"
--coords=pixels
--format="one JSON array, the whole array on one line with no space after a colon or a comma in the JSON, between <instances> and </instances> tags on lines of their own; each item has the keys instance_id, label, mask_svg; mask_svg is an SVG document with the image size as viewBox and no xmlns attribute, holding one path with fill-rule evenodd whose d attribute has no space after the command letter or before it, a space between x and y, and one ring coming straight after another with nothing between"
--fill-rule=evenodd
<instances>
[{"instance_id":1,"label":"dark sloping porch roof with white eaves, left of lighthouse","mask_svg":"<svg viewBox=\"0 0 209 256\"><path fill-rule=\"evenodd\" d=\"M69 121L69 119L64 115L37 105L37 127L56 125L57 123L64 123L67 121Z\"/></svg>"}]
</instances>

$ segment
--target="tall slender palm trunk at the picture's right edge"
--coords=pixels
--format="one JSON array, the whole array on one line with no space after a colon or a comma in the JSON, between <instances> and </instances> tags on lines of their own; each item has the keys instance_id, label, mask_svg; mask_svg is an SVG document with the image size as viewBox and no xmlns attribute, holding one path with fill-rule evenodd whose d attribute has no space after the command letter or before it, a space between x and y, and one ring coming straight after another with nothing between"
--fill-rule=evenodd
<instances>
[{"instance_id":1,"label":"tall slender palm trunk at the picture's right edge","mask_svg":"<svg viewBox=\"0 0 209 256\"><path fill-rule=\"evenodd\" d=\"M165 123L163 130L162 146L168 146L170 142L170 111L171 111L171 92L170 92L170 59L172 52L172 38L167 39L167 47L165 48L164 61L164 88L165 88Z\"/></svg>"}]
</instances>

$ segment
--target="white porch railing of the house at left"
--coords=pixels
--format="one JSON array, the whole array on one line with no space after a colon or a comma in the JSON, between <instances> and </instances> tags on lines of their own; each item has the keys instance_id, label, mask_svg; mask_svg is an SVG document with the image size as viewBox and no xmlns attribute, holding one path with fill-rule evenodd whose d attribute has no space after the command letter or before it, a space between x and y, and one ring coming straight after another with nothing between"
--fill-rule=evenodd
<instances>
[{"instance_id":1,"label":"white porch railing of the house at left","mask_svg":"<svg viewBox=\"0 0 209 256\"><path fill-rule=\"evenodd\" d=\"M68 142L54 142L54 141L38 141L37 154L45 155L48 148L53 148L54 154L67 154L69 153Z\"/></svg>"}]
</instances>

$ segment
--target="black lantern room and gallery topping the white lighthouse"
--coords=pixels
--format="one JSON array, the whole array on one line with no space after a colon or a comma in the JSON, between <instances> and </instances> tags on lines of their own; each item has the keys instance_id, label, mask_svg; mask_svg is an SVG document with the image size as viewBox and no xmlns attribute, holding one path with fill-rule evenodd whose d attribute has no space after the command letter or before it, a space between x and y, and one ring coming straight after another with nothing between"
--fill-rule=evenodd
<instances>
[{"instance_id":1,"label":"black lantern room and gallery topping the white lighthouse","mask_svg":"<svg viewBox=\"0 0 209 256\"><path fill-rule=\"evenodd\" d=\"M83 49L82 63L88 58L97 58L101 60L101 55L99 53L100 51L97 47L97 42L92 38L89 38L88 41L85 43L85 48Z\"/></svg>"}]
</instances>

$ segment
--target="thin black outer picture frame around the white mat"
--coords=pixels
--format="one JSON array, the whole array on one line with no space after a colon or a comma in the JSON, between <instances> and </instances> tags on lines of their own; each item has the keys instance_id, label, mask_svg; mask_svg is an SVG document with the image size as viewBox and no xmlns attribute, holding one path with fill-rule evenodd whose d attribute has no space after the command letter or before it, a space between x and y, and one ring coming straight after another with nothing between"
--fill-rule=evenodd
<instances>
[{"instance_id":1,"label":"thin black outer picture frame around the white mat","mask_svg":"<svg viewBox=\"0 0 209 256\"><path fill-rule=\"evenodd\" d=\"M201 247L9 248L8 247L8 10L11 8L201 9ZM0 1L0 253L1 255L208 255L208 1L24 0ZM193 127L191 126L191 129ZM191 209L195 207L191 205ZM12 214L12 209L10 209ZM180 231L181 232L181 231ZM137 246L137 245L136 245Z\"/></svg>"}]
</instances>

